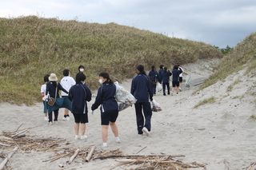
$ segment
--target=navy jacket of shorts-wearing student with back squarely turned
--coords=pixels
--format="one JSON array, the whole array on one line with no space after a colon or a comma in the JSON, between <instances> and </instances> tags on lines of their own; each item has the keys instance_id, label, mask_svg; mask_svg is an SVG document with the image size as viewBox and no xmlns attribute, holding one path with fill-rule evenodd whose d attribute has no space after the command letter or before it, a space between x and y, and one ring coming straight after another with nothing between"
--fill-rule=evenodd
<instances>
[{"instance_id":1,"label":"navy jacket of shorts-wearing student with back squarely turned","mask_svg":"<svg viewBox=\"0 0 256 170\"><path fill-rule=\"evenodd\" d=\"M88 113L87 102L91 100L90 89L82 83L76 83L70 88L69 99L72 101L72 113Z\"/></svg>"}]
</instances>

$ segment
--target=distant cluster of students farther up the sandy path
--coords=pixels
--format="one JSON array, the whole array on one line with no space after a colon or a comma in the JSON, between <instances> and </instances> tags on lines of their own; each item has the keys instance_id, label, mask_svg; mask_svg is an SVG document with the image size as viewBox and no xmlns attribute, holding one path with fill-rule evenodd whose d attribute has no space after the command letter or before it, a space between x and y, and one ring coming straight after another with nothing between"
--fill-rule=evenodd
<instances>
[{"instance_id":1,"label":"distant cluster of students farther up the sandy path","mask_svg":"<svg viewBox=\"0 0 256 170\"><path fill-rule=\"evenodd\" d=\"M174 65L174 68L172 72L170 72L167 67L164 67L164 65L160 65L160 69L158 72L155 70L154 65L151 66L151 71L148 74L150 77L150 81L152 84L152 93L156 94L156 87L157 83L159 82L162 84L162 92L163 95L166 96L166 88L167 88L167 94L174 95L174 90L176 88L176 95L178 95L179 91L182 90L182 73L185 73L188 75L188 73L184 72L182 67L180 65ZM173 76L172 78L172 89L170 90L170 76Z\"/></svg>"}]
</instances>

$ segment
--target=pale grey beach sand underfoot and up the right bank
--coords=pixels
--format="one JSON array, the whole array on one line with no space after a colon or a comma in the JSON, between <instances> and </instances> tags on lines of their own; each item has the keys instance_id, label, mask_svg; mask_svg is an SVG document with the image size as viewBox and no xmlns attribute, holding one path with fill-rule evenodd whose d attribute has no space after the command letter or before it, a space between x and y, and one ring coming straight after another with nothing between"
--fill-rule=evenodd
<instances>
[{"instance_id":1,"label":"pale grey beach sand underfoot and up the right bank","mask_svg":"<svg viewBox=\"0 0 256 170\"><path fill-rule=\"evenodd\" d=\"M226 159L230 169L242 169L255 162L255 132L256 120L250 119L255 115L256 77L245 75L245 70L233 73L225 81L219 81L210 87L193 94L198 84L212 73L212 66L218 60L200 61L182 65L186 73L191 76L190 88L182 87L178 96L163 96L162 92L154 96L162 108L161 112L153 113L151 137L137 136L134 107L119 113L117 125L121 144L114 142L114 135L109 129L108 148L106 151L119 148L125 154L160 154L185 155L178 158L183 162L207 164L207 169L224 169L223 160ZM122 82L130 90L130 81ZM230 89L231 86L232 90ZM39 91L39 86L38 86ZM94 96L96 93L94 92ZM215 97L213 104L201 105L193 109L199 101ZM93 104L95 97L89 102ZM102 145L100 111L89 114L89 123L86 125L88 140L74 140L74 117L70 121L62 121L64 110L60 109L58 125L47 125L43 120L42 103L31 107L22 105L0 104L0 130L14 131L19 125L22 128L42 125L31 128L27 134L36 136L58 136L70 142L70 148L83 148ZM256 115L255 115L256 116ZM145 148L146 147L146 148ZM0 146L0 153L7 152ZM12 169L60 169L59 163L42 162L53 156L52 152L22 152L18 151L11 158L8 166ZM2 162L2 158L0 157ZM75 161L66 166L66 169L110 169L115 164L114 159L93 160L81 164ZM123 169L129 167L122 166ZM196 169L196 168L194 168ZM203 169L203 168L197 168Z\"/></svg>"}]
</instances>

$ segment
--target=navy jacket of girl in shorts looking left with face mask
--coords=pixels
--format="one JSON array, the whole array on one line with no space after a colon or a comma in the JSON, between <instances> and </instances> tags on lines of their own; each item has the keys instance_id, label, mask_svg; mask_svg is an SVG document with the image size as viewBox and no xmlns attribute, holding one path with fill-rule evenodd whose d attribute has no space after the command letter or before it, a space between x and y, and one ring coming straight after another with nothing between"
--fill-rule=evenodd
<instances>
[{"instance_id":1,"label":"navy jacket of girl in shorts looking left with face mask","mask_svg":"<svg viewBox=\"0 0 256 170\"><path fill-rule=\"evenodd\" d=\"M116 87L114 84L110 84L109 81L105 81L102 86L98 89L98 94L94 105L91 109L97 109L101 106L101 113L110 110L118 110L118 102L115 100Z\"/></svg>"}]
</instances>

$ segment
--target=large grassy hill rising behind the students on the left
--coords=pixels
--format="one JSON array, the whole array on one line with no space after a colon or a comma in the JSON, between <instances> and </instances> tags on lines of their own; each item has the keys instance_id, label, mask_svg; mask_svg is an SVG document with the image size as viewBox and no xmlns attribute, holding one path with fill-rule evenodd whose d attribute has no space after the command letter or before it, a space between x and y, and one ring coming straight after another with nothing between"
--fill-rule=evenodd
<instances>
[{"instance_id":1,"label":"large grassy hill rising behind the students on the left","mask_svg":"<svg viewBox=\"0 0 256 170\"><path fill-rule=\"evenodd\" d=\"M222 57L212 45L169 38L114 23L62 21L56 18L0 18L0 102L33 105L41 101L46 73L86 68L86 85L98 88L98 73L115 80L134 76L139 64L185 64Z\"/></svg>"}]
</instances>

